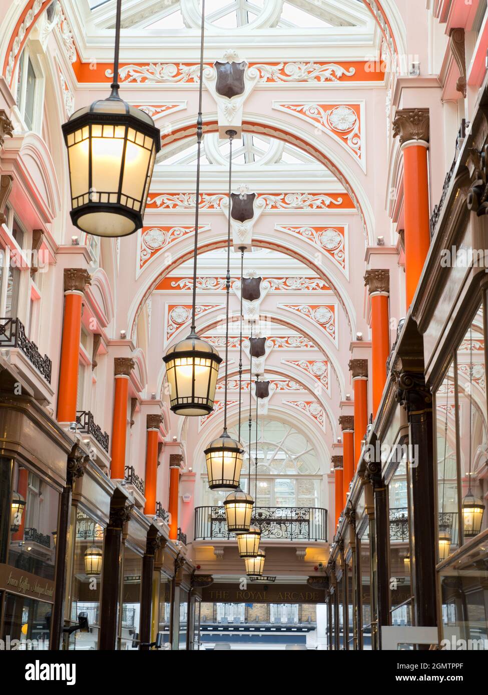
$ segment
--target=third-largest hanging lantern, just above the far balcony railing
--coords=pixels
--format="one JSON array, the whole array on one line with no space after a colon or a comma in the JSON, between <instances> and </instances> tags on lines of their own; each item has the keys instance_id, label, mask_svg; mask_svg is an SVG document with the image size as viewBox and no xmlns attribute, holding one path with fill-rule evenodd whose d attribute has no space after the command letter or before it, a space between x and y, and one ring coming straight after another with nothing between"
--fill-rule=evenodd
<instances>
[{"instance_id":1,"label":"third-largest hanging lantern, just above the far balcony railing","mask_svg":"<svg viewBox=\"0 0 488 695\"><path fill-rule=\"evenodd\" d=\"M244 450L227 430L223 430L219 439L210 442L205 449L207 461L208 486L211 490L236 490L242 468Z\"/></svg>"}]
</instances>

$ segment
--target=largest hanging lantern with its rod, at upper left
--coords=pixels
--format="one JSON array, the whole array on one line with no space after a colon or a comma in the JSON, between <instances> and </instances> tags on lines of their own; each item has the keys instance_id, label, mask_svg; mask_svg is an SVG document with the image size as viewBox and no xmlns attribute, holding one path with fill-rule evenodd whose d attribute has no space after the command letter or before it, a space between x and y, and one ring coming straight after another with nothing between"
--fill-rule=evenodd
<instances>
[{"instance_id":1,"label":"largest hanging lantern with its rod, at upper left","mask_svg":"<svg viewBox=\"0 0 488 695\"><path fill-rule=\"evenodd\" d=\"M63 124L71 220L95 236L127 236L142 227L161 133L152 118L118 95L120 0L111 95L75 111Z\"/></svg>"}]
</instances>

